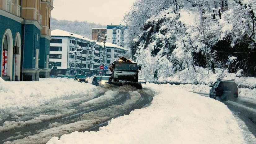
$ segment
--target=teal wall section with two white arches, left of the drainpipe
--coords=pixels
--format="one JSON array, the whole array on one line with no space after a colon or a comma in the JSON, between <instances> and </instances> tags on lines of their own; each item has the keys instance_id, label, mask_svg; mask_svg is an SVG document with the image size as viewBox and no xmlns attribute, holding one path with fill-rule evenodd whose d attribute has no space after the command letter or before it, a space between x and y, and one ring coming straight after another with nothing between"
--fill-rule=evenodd
<instances>
[{"instance_id":1,"label":"teal wall section with two white arches, left of the drainpipe","mask_svg":"<svg viewBox=\"0 0 256 144\"><path fill-rule=\"evenodd\" d=\"M20 49L17 54L14 54L13 47L20 48L23 33L22 22L23 19L17 16L8 17L10 14L3 14L4 11L0 9L0 54L2 66L1 77L6 81L18 81L20 77ZM15 79L16 78L16 79Z\"/></svg>"}]
</instances>

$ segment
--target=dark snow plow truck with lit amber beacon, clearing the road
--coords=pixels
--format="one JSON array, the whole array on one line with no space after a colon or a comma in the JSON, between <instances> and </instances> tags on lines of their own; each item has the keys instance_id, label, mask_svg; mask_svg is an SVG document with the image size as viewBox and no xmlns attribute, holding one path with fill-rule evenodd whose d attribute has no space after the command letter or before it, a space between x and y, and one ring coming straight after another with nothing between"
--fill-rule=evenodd
<instances>
[{"instance_id":1,"label":"dark snow plow truck with lit amber beacon, clearing the road","mask_svg":"<svg viewBox=\"0 0 256 144\"><path fill-rule=\"evenodd\" d=\"M137 62L121 57L111 63L108 68L112 72L109 84L131 85L137 89L142 89L141 83L138 82L138 72L141 71L141 66L138 66Z\"/></svg>"}]
</instances>

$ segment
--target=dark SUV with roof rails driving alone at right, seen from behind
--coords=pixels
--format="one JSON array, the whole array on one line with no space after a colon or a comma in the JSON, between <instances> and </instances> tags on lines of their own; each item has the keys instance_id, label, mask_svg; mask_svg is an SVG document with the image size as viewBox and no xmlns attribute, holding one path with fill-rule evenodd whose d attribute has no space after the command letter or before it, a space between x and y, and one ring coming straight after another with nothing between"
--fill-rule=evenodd
<instances>
[{"instance_id":1,"label":"dark SUV with roof rails driving alone at right, seen from behind","mask_svg":"<svg viewBox=\"0 0 256 144\"><path fill-rule=\"evenodd\" d=\"M210 85L210 98L221 100L233 100L238 98L238 87L234 80L218 79L213 85Z\"/></svg>"}]
</instances>

